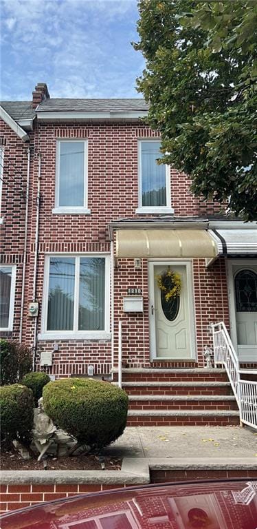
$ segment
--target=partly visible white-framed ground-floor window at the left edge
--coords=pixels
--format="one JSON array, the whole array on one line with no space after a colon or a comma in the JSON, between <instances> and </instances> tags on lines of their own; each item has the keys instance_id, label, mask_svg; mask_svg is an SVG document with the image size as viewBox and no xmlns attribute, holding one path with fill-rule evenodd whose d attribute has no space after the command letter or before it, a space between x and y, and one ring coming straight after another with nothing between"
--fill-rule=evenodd
<instances>
[{"instance_id":1,"label":"partly visible white-framed ground-floor window at the left edge","mask_svg":"<svg viewBox=\"0 0 257 529\"><path fill-rule=\"evenodd\" d=\"M12 331L16 266L0 265L0 330Z\"/></svg>"}]
</instances>

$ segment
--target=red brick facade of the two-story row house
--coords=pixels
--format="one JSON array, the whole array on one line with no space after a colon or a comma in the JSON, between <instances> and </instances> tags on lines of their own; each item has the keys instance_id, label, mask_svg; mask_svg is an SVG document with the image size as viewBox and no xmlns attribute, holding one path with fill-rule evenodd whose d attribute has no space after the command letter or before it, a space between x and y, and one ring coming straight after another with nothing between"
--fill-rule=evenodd
<instances>
[{"instance_id":1,"label":"red brick facade of the two-story row house","mask_svg":"<svg viewBox=\"0 0 257 529\"><path fill-rule=\"evenodd\" d=\"M39 94L39 95L38 95ZM40 103L40 94L48 97L47 87L38 85L34 92L34 107ZM41 123L34 121L30 142L23 141L1 122L1 136L7 138L4 147L4 175L1 216L1 262L17 264L14 326L8 336L19 338L19 322L22 318L22 341L34 344L34 334L41 333L43 311L43 284L45 256L49 253L99 252L110 254L108 235L110 222L119 219L153 218L139 215L137 143L140 138L158 138L142 123ZM54 214L56 180L56 139L78 138L88 141L88 207L91 214ZM30 145L30 189L28 195L28 239L25 274L25 303L21 315L21 279L24 255L25 230L25 180L27 174L27 149ZM36 267L36 297L39 302L38 321L28 315L28 304L33 300L34 252L36 234L36 195L38 192L38 167L41 159L38 262ZM208 218L219 213L220 206L204 203L190 193L190 180L175 169L170 171L172 207L177 218L201 216ZM107 374L118 358L118 320L124 322L123 358L129 366L150 366L149 314L148 314L148 262L142 260L142 268L135 270L131 259L120 259L114 269L113 304L114 318L110 323L111 339L85 340L61 338L39 339L36 344L36 367L39 369L41 351L53 353L53 366L49 373L56 377L83 375L88 364L96 373ZM192 260L193 292L190 303L194 305L196 353L195 364L203 366L203 348L212 344L210 323L223 320L229 326L227 279L225 260L219 258L206 269L204 259ZM122 298L128 287L142 289L144 313L125 314ZM110 296L111 297L111 296ZM111 309L110 309L111 313ZM36 331L35 331L36 325ZM4 333L3 333L4 334ZM171 359L172 360L172 359ZM183 365L190 364L190 360ZM167 364L168 365L168 364ZM191 364L190 364L191 365Z\"/></svg>"}]
</instances>

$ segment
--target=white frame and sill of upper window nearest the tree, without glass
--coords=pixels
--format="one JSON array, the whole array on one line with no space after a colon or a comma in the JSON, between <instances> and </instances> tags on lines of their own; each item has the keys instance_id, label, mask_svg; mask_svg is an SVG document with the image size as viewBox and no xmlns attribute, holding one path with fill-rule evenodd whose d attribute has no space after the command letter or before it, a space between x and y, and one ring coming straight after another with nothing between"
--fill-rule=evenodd
<instances>
[{"instance_id":1,"label":"white frame and sill of upper window nearest the tree, without glass","mask_svg":"<svg viewBox=\"0 0 257 529\"><path fill-rule=\"evenodd\" d=\"M138 207L135 210L136 213L174 213L174 209L170 206L170 166L166 165L166 206L143 206L142 205L142 143L148 141L154 141L160 143L159 139L144 138L144 140L138 141L137 159L138 159Z\"/></svg>"}]
</instances>

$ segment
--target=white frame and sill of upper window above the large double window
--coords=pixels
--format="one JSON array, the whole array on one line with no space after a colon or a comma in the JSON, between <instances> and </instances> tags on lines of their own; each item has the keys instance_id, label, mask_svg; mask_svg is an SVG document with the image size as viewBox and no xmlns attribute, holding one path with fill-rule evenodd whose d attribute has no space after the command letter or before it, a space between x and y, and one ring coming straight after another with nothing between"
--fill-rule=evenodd
<instances>
[{"instance_id":1,"label":"white frame and sill of upper window above the large double window","mask_svg":"<svg viewBox=\"0 0 257 529\"><path fill-rule=\"evenodd\" d=\"M84 143L84 205L83 206L59 206L59 184L60 184L60 143L75 141ZM91 210L87 207L88 196L88 140L85 138L57 138L56 139L56 192L55 207L52 209L53 214L86 214L89 215Z\"/></svg>"}]
</instances>

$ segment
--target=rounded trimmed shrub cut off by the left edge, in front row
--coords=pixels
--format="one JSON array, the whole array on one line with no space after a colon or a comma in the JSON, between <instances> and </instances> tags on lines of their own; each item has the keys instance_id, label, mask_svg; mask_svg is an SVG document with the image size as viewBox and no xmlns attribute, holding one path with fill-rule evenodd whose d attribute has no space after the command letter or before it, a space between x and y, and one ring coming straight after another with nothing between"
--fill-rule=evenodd
<instances>
[{"instance_id":1,"label":"rounded trimmed shrub cut off by the left edge, in front row","mask_svg":"<svg viewBox=\"0 0 257 529\"><path fill-rule=\"evenodd\" d=\"M0 388L1 444L10 446L13 439L29 444L32 437L34 402L30 388L21 384Z\"/></svg>"}]
</instances>

